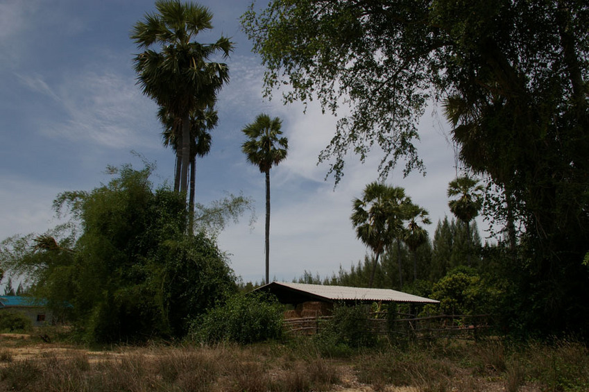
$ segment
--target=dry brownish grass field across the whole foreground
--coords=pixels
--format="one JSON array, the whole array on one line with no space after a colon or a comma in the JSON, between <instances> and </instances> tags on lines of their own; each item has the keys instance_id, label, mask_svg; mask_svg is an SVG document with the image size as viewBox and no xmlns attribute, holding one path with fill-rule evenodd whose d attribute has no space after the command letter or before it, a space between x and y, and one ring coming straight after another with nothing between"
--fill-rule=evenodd
<instances>
[{"instance_id":1,"label":"dry brownish grass field across the whole foreground","mask_svg":"<svg viewBox=\"0 0 589 392\"><path fill-rule=\"evenodd\" d=\"M575 341L383 340L327 354L309 338L99 350L54 340L0 335L0 391L589 391L588 350Z\"/></svg>"}]
</instances>

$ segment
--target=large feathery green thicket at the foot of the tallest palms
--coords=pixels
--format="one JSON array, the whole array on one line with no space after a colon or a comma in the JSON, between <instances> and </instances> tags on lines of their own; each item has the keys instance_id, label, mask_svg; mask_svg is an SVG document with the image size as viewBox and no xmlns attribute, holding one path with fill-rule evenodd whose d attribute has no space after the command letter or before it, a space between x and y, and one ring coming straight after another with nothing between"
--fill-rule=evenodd
<instances>
[{"instance_id":1,"label":"large feathery green thicket at the foot of the tallest palms","mask_svg":"<svg viewBox=\"0 0 589 392\"><path fill-rule=\"evenodd\" d=\"M151 170L111 168L108 185L60 194L56 210L67 208L79 237L51 248L34 248L34 236L2 243L3 261L32 280L35 296L72 305L87 341L183 336L189 319L236 290L225 255L205 233L185 234L182 196L153 190Z\"/></svg>"}]
</instances>

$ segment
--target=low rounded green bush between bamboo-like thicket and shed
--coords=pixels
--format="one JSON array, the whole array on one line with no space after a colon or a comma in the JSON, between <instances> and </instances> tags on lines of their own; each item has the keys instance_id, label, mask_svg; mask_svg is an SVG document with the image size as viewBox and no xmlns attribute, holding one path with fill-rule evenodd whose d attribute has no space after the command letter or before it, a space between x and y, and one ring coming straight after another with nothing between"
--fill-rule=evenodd
<instances>
[{"instance_id":1,"label":"low rounded green bush between bamboo-like thicket and shed","mask_svg":"<svg viewBox=\"0 0 589 392\"><path fill-rule=\"evenodd\" d=\"M190 338L214 343L256 343L282 337L282 306L260 293L238 293L193 321Z\"/></svg>"}]
</instances>

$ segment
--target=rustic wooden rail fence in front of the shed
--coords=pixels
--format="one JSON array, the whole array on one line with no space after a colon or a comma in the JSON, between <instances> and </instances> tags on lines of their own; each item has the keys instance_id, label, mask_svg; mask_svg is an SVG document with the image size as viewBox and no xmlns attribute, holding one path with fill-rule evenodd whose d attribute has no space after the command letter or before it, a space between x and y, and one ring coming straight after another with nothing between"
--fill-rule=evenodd
<instances>
[{"instance_id":1,"label":"rustic wooden rail fence in front of the shed","mask_svg":"<svg viewBox=\"0 0 589 392\"><path fill-rule=\"evenodd\" d=\"M283 321L288 334L313 335L321 332L322 325L331 316L289 318ZM366 333L381 334L392 339L477 339L491 327L489 316L479 315L436 315L416 317L411 314L372 313L368 316Z\"/></svg>"}]
</instances>

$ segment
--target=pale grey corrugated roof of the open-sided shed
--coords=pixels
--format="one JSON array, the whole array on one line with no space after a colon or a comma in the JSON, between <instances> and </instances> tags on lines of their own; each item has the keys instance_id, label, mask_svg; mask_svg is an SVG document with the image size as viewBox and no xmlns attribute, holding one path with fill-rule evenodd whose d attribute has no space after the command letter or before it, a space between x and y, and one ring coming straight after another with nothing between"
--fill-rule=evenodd
<instances>
[{"instance_id":1,"label":"pale grey corrugated roof of the open-sided shed","mask_svg":"<svg viewBox=\"0 0 589 392\"><path fill-rule=\"evenodd\" d=\"M270 288L272 285L287 287L289 289L311 293L313 296L325 298L327 300L357 300L357 301L391 301L391 302L418 302L418 303L438 303L439 301L430 300L420 296L413 296L412 294L403 293L402 291L395 291L389 289L365 289L361 287L345 287L345 286L327 286L321 284L305 284L305 283L287 283L287 282L272 282L260 287Z\"/></svg>"}]
</instances>

